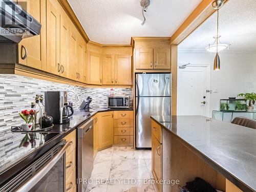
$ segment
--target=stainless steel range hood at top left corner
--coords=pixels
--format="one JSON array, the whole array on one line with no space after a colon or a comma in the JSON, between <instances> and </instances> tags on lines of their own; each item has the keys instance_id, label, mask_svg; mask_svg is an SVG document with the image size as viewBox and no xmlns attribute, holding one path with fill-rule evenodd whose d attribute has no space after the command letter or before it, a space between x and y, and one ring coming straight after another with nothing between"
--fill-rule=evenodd
<instances>
[{"instance_id":1,"label":"stainless steel range hood at top left corner","mask_svg":"<svg viewBox=\"0 0 256 192\"><path fill-rule=\"evenodd\" d=\"M20 42L39 35L41 24L22 7L10 0L0 0L0 43Z\"/></svg>"}]
</instances>

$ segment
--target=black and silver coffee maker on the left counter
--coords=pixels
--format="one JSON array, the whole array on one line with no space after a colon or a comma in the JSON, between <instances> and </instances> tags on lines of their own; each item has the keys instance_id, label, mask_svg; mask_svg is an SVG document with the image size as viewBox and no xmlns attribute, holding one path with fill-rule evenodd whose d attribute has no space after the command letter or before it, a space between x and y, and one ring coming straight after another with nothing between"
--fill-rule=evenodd
<instances>
[{"instance_id":1,"label":"black and silver coffee maker on the left counter","mask_svg":"<svg viewBox=\"0 0 256 192\"><path fill-rule=\"evenodd\" d=\"M47 114L53 118L53 124L68 123L69 117L74 114L73 107L68 105L67 91L46 91L45 107Z\"/></svg>"}]
</instances>

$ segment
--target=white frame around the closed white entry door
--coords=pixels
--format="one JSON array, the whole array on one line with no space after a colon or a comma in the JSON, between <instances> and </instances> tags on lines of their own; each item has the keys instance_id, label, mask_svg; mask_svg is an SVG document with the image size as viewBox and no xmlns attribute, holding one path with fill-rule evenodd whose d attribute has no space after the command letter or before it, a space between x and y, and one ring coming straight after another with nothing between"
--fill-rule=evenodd
<instances>
[{"instance_id":1,"label":"white frame around the closed white entry door","mask_svg":"<svg viewBox=\"0 0 256 192\"><path fill-rule=\"evenodd\" d=\"M178 96L178 93L180 93L180 86L178 84L178 81L180 82L179 80L179 67L182 66L181 64L178 64L177 66L177 96ZM207 80L207 83L206 83L206 90L210 90L210 65L199 65L199 64L193 64L193 65L190 65L190 66L186 66L186 68L193 68L193 67L204 67L206 68L206 80ZM206 91L205 90L205 91ZM206 117L210 117L210 94L209 92L206 92L206 95L207 95L207 99L206 99L206 102L208 103L207 104L207 109L206 109ZM178 109L178 102L177 102L177 109Z\"/></svg>"}]
</instances>

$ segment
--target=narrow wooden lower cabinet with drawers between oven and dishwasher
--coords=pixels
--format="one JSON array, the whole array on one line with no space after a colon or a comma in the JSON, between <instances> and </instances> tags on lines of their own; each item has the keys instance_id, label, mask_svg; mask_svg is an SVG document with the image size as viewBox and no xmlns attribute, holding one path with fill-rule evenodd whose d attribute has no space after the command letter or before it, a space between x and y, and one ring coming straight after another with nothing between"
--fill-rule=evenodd
<instances>
[{"instance_id":1,"label":"narrow wooden lower cabinet with drawers between oven and dishwasher","mask_svg":"<svg viewBox=\"0 0 256 192\"><path fill-rule=\"evenodd\" d=\"M66 150L66 191L76 191L76 130L65 139L70 142Z\"/></svg>"}]
</instances>

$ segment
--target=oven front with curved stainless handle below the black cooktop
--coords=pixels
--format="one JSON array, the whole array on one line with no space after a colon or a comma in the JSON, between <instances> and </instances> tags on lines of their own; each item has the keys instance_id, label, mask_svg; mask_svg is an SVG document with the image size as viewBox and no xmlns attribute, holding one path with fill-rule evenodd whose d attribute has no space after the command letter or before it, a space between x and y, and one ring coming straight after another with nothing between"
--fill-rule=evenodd
<instances>
[{"instance_id":1,"label":"oven front with curved stainless handle below the black cooktop","mask_svg":"<svg viewBox=\"0 0 256 192\"><path fill-rule=\"evenodd\" d=\"M60 141L15 174L0 191L66 191L66 150L69 145L69 141Z\"/></svg>"}]
</instances>

